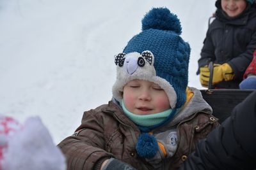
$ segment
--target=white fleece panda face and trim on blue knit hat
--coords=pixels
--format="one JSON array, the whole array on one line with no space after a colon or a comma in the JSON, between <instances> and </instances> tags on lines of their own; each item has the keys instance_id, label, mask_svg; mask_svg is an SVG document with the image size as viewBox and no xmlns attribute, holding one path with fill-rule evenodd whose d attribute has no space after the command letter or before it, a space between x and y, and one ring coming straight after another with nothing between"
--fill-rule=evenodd
<instances>
[{"instance_id":1,"label":"white fleece panda face and trim on blue knit hat","mask_svg":"<svg viewBox=\"0 0 256 170\"><path fill-rule=\"evenodd\" d=\"M168 81L156 76L154 62L154 55L148 50L142 53L119 53L116 55L116 82L112 89L113 97L121 102L123 98L122 92L126 83L135 79L147 80L159 85L166 92L171 108L175 108L177 94Z\"/></svg>"}]
</instances>

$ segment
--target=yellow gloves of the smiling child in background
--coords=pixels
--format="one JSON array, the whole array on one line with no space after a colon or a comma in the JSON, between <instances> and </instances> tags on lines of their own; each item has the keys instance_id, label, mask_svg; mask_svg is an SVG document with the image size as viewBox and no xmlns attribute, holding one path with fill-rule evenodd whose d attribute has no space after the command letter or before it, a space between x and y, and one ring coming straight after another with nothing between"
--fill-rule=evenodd
<instances>
[{"instance_id":1,"label":"yellow gloves of the smiling child in background","mask_svg":"<svg viewBox=\"0 0 256 170\"><path fill-rule=\"evenodd\" d=\"M204 87L209 83L210 71L209 67L200 67L200 82ZM229 64L213 64L212 84L219 83L220 81L230 81L234 78L234 73Z\"/></svg>"}]
</instances>

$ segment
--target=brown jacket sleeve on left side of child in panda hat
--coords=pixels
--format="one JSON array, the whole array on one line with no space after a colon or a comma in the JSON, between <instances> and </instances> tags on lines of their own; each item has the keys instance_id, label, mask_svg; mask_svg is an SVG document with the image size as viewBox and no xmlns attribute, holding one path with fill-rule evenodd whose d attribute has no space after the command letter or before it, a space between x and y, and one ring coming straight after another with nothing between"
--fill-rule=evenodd
<instances>
[{"instance_id":1,"label":"brown jacket sleeve on left side of child in panda hat","mask_svg":"<svg viewBox=\"0 0 256 170\"><path fill-rule=\"evenodd\" d=\"M113 157L104 150L103 119L94 110L84 112L75 136L58 145L67 159L67 170L99 169L102 162Z\"/></svg>"}]
</instances>

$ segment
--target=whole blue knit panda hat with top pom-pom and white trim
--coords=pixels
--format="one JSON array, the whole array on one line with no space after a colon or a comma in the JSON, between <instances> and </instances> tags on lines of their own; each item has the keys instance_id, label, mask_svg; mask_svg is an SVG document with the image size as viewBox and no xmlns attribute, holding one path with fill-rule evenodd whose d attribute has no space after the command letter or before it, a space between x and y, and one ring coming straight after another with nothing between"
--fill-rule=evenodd
<instances>
[{"instance_id":1,"label":"whole blue knit panda hat with top pom-pom and white trim","mask_svg":"<svg viewBox=\"0 0 256 170\"><path fill-rule=\"evenodd\" d=\"M167 8L152 8L142 19L142 31L115 56L117 65L113 97L122 101L124 85L141 79L157 83L167 94L170 106L186 101L190 47L180 37L177 15Z\"/></svg>"}]
</instances>

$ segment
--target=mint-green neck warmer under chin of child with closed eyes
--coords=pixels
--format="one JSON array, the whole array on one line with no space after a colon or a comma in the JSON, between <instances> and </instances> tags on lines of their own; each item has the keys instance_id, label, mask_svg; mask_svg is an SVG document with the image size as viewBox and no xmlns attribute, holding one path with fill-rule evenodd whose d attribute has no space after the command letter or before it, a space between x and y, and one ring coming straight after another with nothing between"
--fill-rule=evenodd
<instances>
[{"instance_id":1,"label":"mint-green neck warmer under chin of child with closed eyes","mask_svg":"<svg viewBox=\"0 0 256 170\"><path fill-rule=\"evenodd\" d=\"M160 113L154 113L150 115L136 115L128 111L127 108L125 108L124 101L122 101L122 108L125 115L127 115L127 117L129 117L132 122L134 122L136 125L140 125L143 127L150 127L152 125L160 124L170 115L170 113L172 113L172 109L169 109Z\"/></svg>"}]
</instances>

